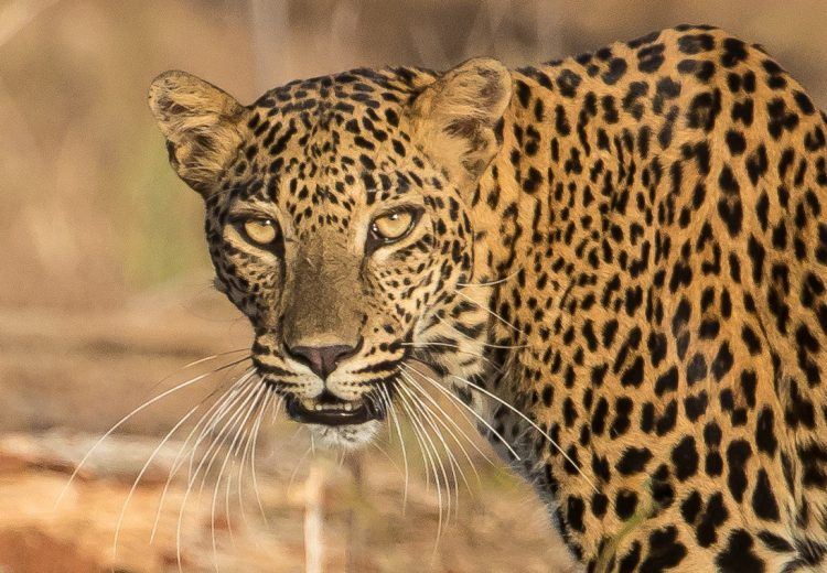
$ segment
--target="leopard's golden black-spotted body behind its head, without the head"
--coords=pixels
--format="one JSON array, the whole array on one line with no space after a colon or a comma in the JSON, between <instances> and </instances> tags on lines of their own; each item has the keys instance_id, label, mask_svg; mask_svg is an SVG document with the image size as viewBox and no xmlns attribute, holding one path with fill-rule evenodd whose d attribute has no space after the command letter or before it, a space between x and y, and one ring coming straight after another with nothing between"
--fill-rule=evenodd
<instances>
[{"instance_id":1,"label":"leopard's golden black-spotted body behind its head, without the head","mask_svg":"<svg viewBox=\"0 0 827 573\"><path fill-rule=\"evenodd\" d=\"M492 338L524 346L512 398L567 456L498 419L574 553L825 566L827 155L804 88L679 26L519 69L503 138L474 197L497 221L480 252L514 275Z\"/></svg>"}]
</instances>

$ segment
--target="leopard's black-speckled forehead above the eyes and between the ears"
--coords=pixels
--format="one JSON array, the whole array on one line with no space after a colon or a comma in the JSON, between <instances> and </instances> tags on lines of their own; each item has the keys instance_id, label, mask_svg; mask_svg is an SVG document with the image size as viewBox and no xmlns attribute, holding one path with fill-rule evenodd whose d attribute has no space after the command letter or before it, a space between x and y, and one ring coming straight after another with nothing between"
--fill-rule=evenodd
<instances>
[{"instance_id":1,"label":"leopard's black-speckled forehead above the eyes and between the ears","mask_svg":"<svg viewBox=\"0 0 827 573\"><path fill-rule=\"evenodd\" d=\"M250 106L235 197L278 205L297 226L346 227L355 210L439 185L423 181L405 118L417 77L356 69L269 90Z\"/></svg>"}]
</instances>

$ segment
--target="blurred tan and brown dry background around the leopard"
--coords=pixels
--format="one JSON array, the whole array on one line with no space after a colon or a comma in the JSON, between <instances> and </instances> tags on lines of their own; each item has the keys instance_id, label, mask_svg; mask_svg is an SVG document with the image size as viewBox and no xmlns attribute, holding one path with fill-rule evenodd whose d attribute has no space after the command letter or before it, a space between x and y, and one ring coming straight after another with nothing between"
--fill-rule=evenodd
<instances>
[{"instance_id":1,"label":"blurred tan and brown dry background around the leopard","mask_svg":"<svg viewBox=\"0 0 827 573\"><path fill-rule=\"evenodd\" d=\"M827 104L824 0L0 0L0 572L566 570L541 506L484 444L448 523L415 452L402 507L393 436L340 458L288 422L264 424L257 483L213 471L185 500L179 472L157 513L186 426L159 442L232 366L118 426L65 488L122 415L244 354L183 366L249 342L210 288L201 202L167 163L147 87L181 68L249 102L350 67L523 65L683 22L763 44Z\"/></svg>"}]
</instances>

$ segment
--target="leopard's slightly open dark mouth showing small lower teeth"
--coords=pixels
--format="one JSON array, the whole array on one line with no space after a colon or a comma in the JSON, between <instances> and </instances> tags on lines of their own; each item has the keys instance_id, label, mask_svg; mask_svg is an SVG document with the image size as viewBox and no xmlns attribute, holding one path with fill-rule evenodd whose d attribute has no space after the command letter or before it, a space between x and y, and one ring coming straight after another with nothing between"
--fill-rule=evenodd
<instances>
[{"instance_id":1,"label":"leopard's slightly open dark mouth showing small lower teeth","mask_svg":"<svg viewBox=\"0 0 827 573\"><path fill-rule=\"evenodd\" d=\"M385 419L385 410L372 400L342 400L326 390L315 398L290 396L287 412L303 424L358 425Z\"/></svg>"}]
</instances>

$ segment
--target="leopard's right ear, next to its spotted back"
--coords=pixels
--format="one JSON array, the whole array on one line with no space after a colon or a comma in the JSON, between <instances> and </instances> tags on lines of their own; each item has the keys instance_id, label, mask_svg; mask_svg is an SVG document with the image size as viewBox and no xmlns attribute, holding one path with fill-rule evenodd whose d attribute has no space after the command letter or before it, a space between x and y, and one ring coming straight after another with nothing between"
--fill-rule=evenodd
<instances>
[{"instance_id":1,"label":"leopard's right ear, next to its spotted back","mask_svg":"<svg viewBox=\"0 0 827 573\"><path fill-rule=\"evenodd\" d=\"M469 60L414 100L416 141L461 184L475 183L500 150L497 123L511 97L512 76L502 63Z\"/></svg>"}]
</instances>

